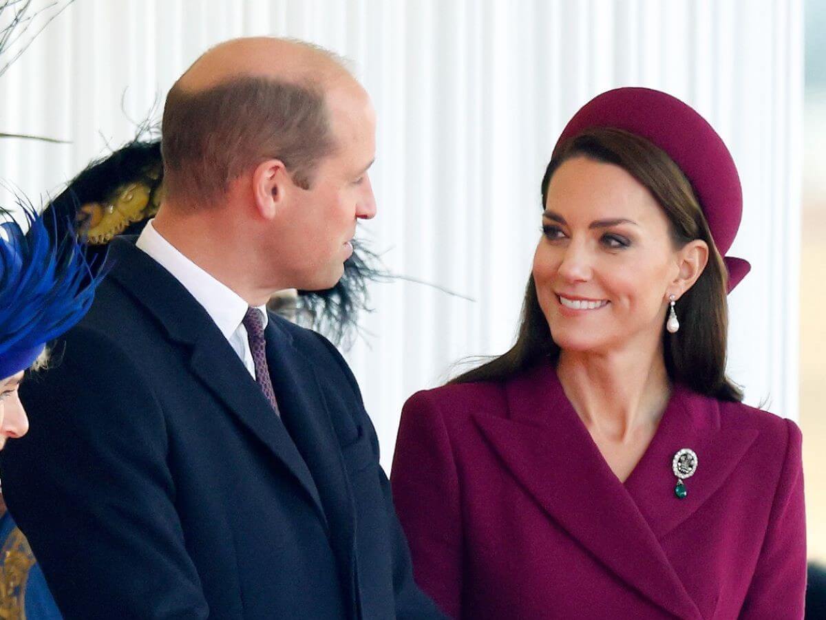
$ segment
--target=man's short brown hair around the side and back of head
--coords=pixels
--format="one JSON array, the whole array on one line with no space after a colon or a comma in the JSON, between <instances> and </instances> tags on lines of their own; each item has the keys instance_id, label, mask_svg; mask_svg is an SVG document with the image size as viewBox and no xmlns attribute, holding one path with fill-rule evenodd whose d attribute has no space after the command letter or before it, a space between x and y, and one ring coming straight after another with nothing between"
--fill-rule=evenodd
<instances>
[{"instance_id":1,"label":"man's short brown hair around the side and back of head","mask_svg":"<svg viewBox=\"0 0 826 620\"><path fill-rule=\"evenodd\" d=\"M317 163L335 149L323 89L266 77L197 92L176 83L162 132L167 196L199 204L225 196L232 181L267 159L280 159L307 189Z\"/></svg>"}]
</instances>

